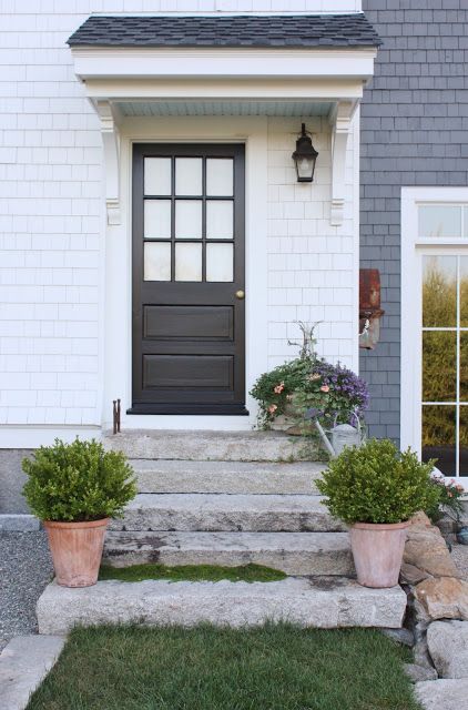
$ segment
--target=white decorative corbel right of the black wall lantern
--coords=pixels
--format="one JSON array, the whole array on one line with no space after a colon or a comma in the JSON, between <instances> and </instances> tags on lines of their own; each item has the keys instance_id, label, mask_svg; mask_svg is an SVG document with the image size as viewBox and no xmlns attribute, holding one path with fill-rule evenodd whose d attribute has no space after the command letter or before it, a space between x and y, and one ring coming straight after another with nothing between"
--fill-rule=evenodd
<instances>
[{"instance_id":1,"label":"white decorative corbel right of the black wall lantern","mask_svg":"<svg viewBox=\"0 0 468 710\"><path fill-rule=\"evenodd\" d=\"M346 149L353 114L354 101L338 101L330 113L332 123L332 209L330 224L343 224L345 212Z\"/></svg>"}]
</instances>

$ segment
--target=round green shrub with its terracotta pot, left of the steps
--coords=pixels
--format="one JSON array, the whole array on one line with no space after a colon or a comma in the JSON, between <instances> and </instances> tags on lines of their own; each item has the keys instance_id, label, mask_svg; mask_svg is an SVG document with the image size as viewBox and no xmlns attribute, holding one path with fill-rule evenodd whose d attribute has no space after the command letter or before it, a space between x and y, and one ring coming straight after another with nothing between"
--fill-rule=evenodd
<instances>
[{"instance_id":1,"label":"round green shrub with its terracotta pot, left of the steps","mask_svg":"<svg viewBox=\"0 0 468 710\"><path fill-rule=\"evenodd\" d=\"M24 458L22 467L23 494L47 529L58 584L95 585L109 519L121 517L136 494L125 456L105 452L94 439L55 439Z\"/></svg>"}]
</instances>

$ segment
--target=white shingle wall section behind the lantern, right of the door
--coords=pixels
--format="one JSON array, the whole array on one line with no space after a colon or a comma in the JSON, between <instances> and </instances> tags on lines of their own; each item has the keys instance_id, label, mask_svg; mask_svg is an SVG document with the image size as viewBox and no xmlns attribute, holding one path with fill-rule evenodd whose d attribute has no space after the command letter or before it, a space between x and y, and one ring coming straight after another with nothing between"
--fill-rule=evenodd
<instances>
[{"instance_id":1,"label":"white shingle wall section behind the lantern, right of the door","mask_svg":"<svg viewBox=\"0 0 468 710\"><path fill-rule=\"evenodd\" d=\"M321 354L353 366L355 253L353 184L356 159L350 140L349 207L342 227L330 226L330 134L326 119L306 119L319 153L313 184L296 182L291 154L298 119L268 119L268 362L297 352L294 321L322 321Z\"/></svg>"}]
</instances>

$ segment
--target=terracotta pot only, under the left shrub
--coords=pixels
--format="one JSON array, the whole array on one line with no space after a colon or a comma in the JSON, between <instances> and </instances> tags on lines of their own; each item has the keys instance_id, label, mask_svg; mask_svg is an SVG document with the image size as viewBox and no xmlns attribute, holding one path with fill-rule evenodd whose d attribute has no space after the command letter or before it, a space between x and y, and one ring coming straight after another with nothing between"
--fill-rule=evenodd
<instances>
[{"instance_id":1,"label":"terracotta pot only, under the left shrub","mask_svg":"<svg viewBox=\"0 0 468 710\"><path fill-rule=\"evenodd\" d=\"M44 520L57 582L91 587L98 581L109 518L91 523Z\"/></svg>"}]
</instances>

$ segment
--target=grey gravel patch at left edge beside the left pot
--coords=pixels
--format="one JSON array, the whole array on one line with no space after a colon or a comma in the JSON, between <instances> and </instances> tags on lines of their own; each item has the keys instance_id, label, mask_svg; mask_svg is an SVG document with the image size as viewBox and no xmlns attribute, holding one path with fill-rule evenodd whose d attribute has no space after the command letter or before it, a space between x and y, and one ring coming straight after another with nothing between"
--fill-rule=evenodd
<instances>
[{"instance_id":1,"label":"grey gravel patch at left edge beside the left pot","mask_svg":"<svg viewBox=\"0 0 468 710\"><path fill-rule=\"evenodd\" d=\"M35 602L52 578L45 531L0 532L0 650L35 633Z\"/></svg>"}]
</instances>

